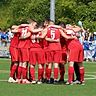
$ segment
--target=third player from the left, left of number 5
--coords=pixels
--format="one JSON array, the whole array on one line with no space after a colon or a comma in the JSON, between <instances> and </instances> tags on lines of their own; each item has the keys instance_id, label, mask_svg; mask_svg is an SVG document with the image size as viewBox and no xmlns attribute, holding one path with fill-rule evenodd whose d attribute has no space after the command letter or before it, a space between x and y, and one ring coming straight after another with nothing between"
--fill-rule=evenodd
<instances>
[{"instance_id":1,"label":"third player from the left, left of number 5","mask_svg":"<svg viewBox=\"0 0 96 96\"><path fill-rule=\"evenodd\" d=\"M34 22L36 24L36 22ZM34 25L35 28L36 25ZM34 29L35 30L35 29ZM42 30L42 29L40 29ZM44 73L44 51L42 49L42 40L37 39L41 35L41 31L37 28L36 31L32 31L31 33L31 43L30 43L30 76L32 79L32 84L36 83L35 79L35 65L38 63L38 82L37 84L42 83L43 73Z\"/></svg>"}]
</instances>

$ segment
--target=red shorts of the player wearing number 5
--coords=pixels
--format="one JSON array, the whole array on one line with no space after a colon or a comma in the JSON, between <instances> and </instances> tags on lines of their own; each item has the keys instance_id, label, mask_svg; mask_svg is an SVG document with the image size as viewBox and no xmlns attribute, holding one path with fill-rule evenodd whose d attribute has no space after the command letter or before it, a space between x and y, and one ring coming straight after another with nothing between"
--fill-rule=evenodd
<instances>
[{"instance_id":1,"label":"red shorts of the player wearing number 5","mask_svg":"<svg viewBox=\"0 0 96 96\"><path fill-rule=\"evenodd\" d=\"M48 61L50 62L54 62L54 63L61 63L62 61L62 52L61 50L54 50L54 51L50 51L50 58Z\"/></svg>"}]
</instances>

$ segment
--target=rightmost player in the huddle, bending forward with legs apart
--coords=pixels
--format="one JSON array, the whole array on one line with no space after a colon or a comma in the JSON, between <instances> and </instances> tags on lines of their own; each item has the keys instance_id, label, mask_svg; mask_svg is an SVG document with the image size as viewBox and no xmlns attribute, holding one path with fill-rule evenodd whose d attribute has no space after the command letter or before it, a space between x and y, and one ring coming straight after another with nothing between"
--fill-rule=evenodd
<instances>
[{"instance_id":1,"label":"rightmost player in the huddle, bending forward with legs apart","mask_svg":"<svg viewBox=\"0 0 96 96\"><path fill-rule=\"evenodd\" d=\"M66 29L67 35L76 35L76 32L80 31L81 28L78 26L68 26ZM80 44L78 39L72 39L67 41L68 54L69 54L69 66L68 66L68 82L66 84L73 84L74 74L74 63L76 62L79 66L80 82L84 82L84 66L83 66L83 46Z\"/></svg>"}]
</instances>

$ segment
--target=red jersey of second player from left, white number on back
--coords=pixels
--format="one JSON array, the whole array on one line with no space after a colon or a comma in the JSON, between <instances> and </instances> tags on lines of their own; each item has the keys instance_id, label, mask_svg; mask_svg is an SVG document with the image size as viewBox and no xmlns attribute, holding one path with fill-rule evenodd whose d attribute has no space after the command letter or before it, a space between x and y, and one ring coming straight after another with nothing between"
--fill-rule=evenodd
<instances>
[{"instance_id":1,"label":"red jersey of second player from left, white number on back","mask_svg":"<svg viewBox=\"0 0 96 96\"><path fill-rule=\"evenodd\" d=\"M23 37L28 32L30 32L30 30L28 29L28 27L20 27L19 32L20 32L20 37L21 36ZM30 48L30 37L28 37L26 39L20 39L19 44L18 44L18 48Z\"/></svg>"}]
</instances>

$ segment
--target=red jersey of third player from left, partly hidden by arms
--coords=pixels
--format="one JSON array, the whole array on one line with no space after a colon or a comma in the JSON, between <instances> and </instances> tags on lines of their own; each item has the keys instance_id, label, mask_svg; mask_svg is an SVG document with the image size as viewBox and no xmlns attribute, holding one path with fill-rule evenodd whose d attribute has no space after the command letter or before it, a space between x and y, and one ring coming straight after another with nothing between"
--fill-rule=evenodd
<instances>
[{"instance_id":1,"label":"red jersey of third player from left, partly hidden by arms","mask_svg":"<svg viewBox=\"0 0 96 96\"><path fill-rule=\"evenodd\" d=\"M32 33L31 37L37 37L37 36L40 36L41 35L41 32L38 32L38 33ZM30 47L31 48L42 48L43 47L43 44L42 44L42 40L41 39L33 39L31 40L31 44L30 44Z\"/></svg>"}]
</instances>

